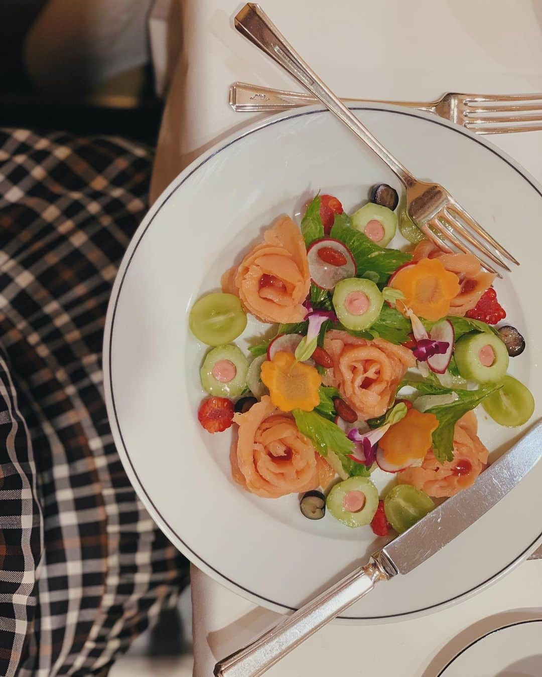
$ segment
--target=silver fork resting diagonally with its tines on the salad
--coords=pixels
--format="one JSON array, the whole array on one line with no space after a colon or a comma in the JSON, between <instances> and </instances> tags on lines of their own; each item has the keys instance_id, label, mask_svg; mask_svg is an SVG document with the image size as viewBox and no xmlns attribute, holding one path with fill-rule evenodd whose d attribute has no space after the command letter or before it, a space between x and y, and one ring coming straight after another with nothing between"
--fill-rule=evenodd
<instances>
[{"instance_id":1,"label":"silver fork resting diagonally with its tines on the salad","mask_svg":"<svg viewBox=\"0 0 542 677\"><path fill-rule=\"evenodd\" d=\"M444 252L453 253L454 250L443 241L447 240L462 252L473 254L484 268L499 275L499 277L501 277L499 272L487 261L480 258L475 249L507 271L510 271L509 267L495 251L512 263L519 265L512 254L484 230L447 190L438 183L419 181L397 158L386 150L367 127L360 123L354 113L301 59L259 5L255 3L245 5L241 12L236 15L234 24L236 30L259 49L266 52L293 75L301 85L304 85L314 96L318 97L322 104L327 106L341 122L390 167L406 188L406 210L409 216L436 246ZM490 245L493 250L482 240Z\"/></svg>"}]
</instances>

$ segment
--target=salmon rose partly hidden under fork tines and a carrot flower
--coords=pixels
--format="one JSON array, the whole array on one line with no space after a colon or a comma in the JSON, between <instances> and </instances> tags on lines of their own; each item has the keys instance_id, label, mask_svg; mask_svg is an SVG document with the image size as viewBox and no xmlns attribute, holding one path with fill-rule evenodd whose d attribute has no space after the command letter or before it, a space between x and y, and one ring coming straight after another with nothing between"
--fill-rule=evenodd
<instances>
[{"instance_id":1,"label":"salmon rose partly hidden under fork tines and a carrot flower","mask_svg":"<svg viewBox=\"0 0 542 677\"><path fill-rule=\"evenodd\" d=\"M459 278L459 294L450 301L449 314L460 318L474 308L495 280L495 275L485 271L472 254L446 254L429 240L422 240L414 250L413 261L421 259L438 259L446 270Z\"/></svg>"}]
</instances>

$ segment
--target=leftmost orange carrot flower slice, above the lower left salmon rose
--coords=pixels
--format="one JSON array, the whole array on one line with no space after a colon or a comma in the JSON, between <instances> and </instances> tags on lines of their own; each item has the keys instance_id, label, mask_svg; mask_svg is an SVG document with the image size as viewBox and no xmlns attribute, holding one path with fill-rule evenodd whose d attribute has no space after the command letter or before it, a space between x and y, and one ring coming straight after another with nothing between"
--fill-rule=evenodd
<instances>
[{"instance_id":1,"label":"leftmost orange carrot flower slice, above the lower left salmon rose","mask_svg":"<svg viewBox=\"0 0 542 677\"><path fill-rule=\"evenodd\" d=\"M311 412L320 403L320 374L309 364L297 362L291 353L278 351L273 359L262 364L260 374L272 403L283 412L293 409Z\"/></svg>"}]
</instances>

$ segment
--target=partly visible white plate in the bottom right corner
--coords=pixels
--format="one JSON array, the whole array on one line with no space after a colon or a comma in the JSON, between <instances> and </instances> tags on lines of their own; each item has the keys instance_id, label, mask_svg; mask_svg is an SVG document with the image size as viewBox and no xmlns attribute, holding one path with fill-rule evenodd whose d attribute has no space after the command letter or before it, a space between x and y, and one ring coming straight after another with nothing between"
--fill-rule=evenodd
<instances>
[{"instance_id":1,"label":"partly visible white plate in the bottom right corner","mask_svg":"<svg viewBox=\"0 0 542 677\"><path fill-rule=\"evenodd\" d=\"M437 677L540 677L542 619L492 630L460 651Z\"/></svg>"}]
</instances>

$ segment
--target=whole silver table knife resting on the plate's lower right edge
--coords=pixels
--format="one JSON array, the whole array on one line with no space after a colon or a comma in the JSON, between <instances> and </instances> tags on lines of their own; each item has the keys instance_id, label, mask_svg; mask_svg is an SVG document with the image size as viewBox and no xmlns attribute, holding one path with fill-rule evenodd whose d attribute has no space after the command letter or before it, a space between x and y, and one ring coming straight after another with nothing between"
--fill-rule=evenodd
<instances>
[{"instance_id":1,"label":"whole silver table knife resting on the plate's lower right edge","mask_svg":"<svg viewBox=\"0 0 542 677\"><path fill-rule=\"evenodd\" d=\"M493 508L535 466L542 454L539 422L476 483L432 510L337 584L280 621L278 626L215 665L215 677L257 677L316 630L348 609L379 581L409 573Z\"/></svg>"}]
</instances>

